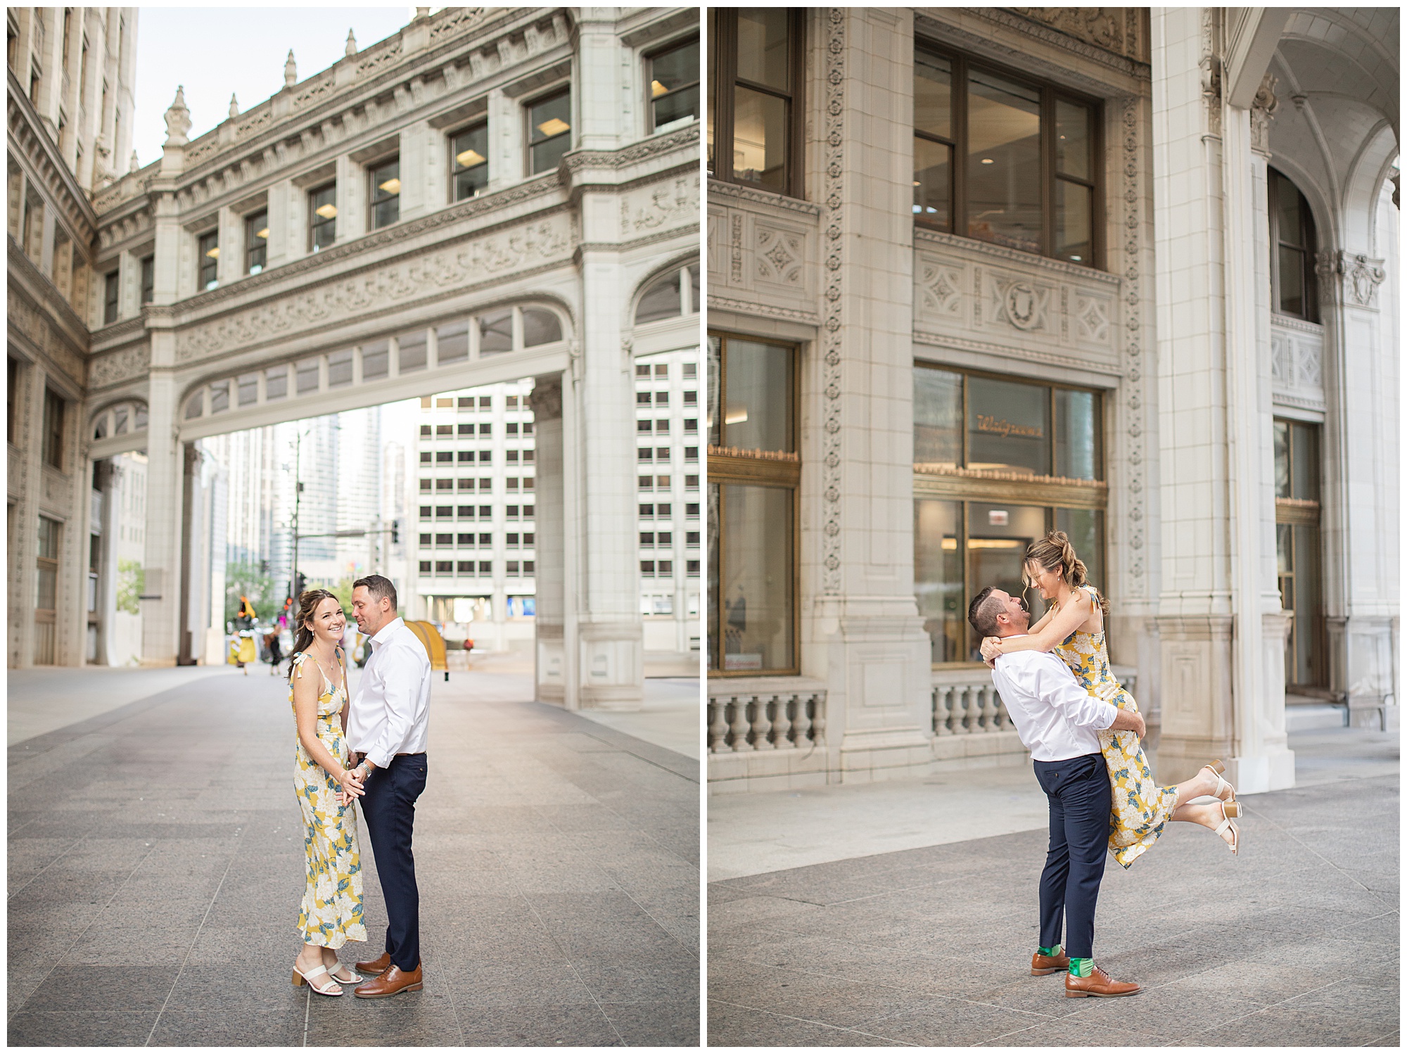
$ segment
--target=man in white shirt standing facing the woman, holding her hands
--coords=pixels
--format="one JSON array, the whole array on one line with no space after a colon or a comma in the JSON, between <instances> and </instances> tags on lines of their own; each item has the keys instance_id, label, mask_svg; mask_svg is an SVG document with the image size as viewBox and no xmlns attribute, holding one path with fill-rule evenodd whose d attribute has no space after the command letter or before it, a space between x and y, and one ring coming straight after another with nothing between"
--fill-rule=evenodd
<instances>
[{"instance_id":1,"label":"man in white shirt standing facing the woman, holding her hands","mask_svg":"<svg viewBox=\"0 0 1407 1054\"><path fill-rule=\"evenodd\" d=\"M418 992L421 978L421 894L415 885L411 834L415 799L425 789L425 739L431 709L431 659L421 639L395 614L395 587L371 574L352 587L352 615L371 654L348 711L348 746L360 761L345 787L362 792L362 816L376 853L386 896L386 953L357 970L376 977L355 995L380 999Z\"/></svg>"}]
</instances>

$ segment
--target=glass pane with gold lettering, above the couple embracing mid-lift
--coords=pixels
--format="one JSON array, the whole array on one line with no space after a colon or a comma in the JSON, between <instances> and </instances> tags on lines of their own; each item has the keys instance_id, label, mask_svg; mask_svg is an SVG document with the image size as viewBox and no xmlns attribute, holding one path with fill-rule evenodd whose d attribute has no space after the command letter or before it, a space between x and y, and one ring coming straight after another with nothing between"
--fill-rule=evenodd
<instances>
[{"instance_id":1,"label":"glass pane with gold lettering, above the couple embracing mid-lift","mask_svg":"<svg viewBox=\"0 0 1407 1054\"><path fill-rule=\"evenodd\" d=\"M1051 470L1050 388L968 377L969 469L1047 476Z\"/></svg>"}]
</instances>

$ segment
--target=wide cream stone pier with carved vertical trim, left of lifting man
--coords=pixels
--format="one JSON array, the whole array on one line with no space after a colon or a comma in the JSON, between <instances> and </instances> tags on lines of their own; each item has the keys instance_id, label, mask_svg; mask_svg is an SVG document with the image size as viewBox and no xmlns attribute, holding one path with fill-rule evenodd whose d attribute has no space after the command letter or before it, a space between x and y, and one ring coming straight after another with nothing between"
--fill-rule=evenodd
<instances>
[{"instance_id":1,"label":"wide cream stone pier with carved vertical trim, left of lifting man","mask_svg":"<svg viewBox=\"0 0 1407 1054\"><path fill-rule=\"evenodd\" d=\"M913 20L822 8L822 336L802 372L802 673L846 781L931 760L913 592ZM882 246L882 248L881 248Z\"/></svg>"}]
</instances>

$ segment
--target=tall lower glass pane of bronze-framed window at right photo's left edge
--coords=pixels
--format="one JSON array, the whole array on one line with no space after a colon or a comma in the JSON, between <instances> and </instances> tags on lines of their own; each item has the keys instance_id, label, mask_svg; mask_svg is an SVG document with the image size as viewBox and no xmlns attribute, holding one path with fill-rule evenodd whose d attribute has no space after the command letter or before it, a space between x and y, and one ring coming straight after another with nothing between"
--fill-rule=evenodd
<instances>
[{"instance_id":1,"label":"tall lower glass pane of bronze-framed window at right photo's left edge","mask_svg":"<svg viewBox=\"0 0 1407 1054\"><path fill-rule=\"evenodd\" d=\"M718 605L722 647L715 666L729 673L795 666L795 560L792 491L725 484L719 495Z\"/></svg>"}]
</instances>

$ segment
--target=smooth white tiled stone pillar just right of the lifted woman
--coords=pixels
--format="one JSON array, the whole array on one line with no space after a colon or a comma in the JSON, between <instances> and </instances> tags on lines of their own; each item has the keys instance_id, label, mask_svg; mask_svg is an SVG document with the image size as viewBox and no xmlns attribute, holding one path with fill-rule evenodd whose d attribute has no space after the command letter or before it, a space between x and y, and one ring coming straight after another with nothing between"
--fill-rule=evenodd
<instances>
[{"instance_id":1,"label":"smooth white tiled stone pillar just right of the lifted woman","mask_svg":"<svg viewBox=\"0 0 1407 1054\"><path fill-rule=\"evenodd\" d=\"M1275 578L1262 104L1221 96L1218 17L1152 17L1162 735L1158 773L1211 757L1245 792L1294 785ZM1273 96L1272 96L1273 99Z\"/></svg>"}]
</instances>

